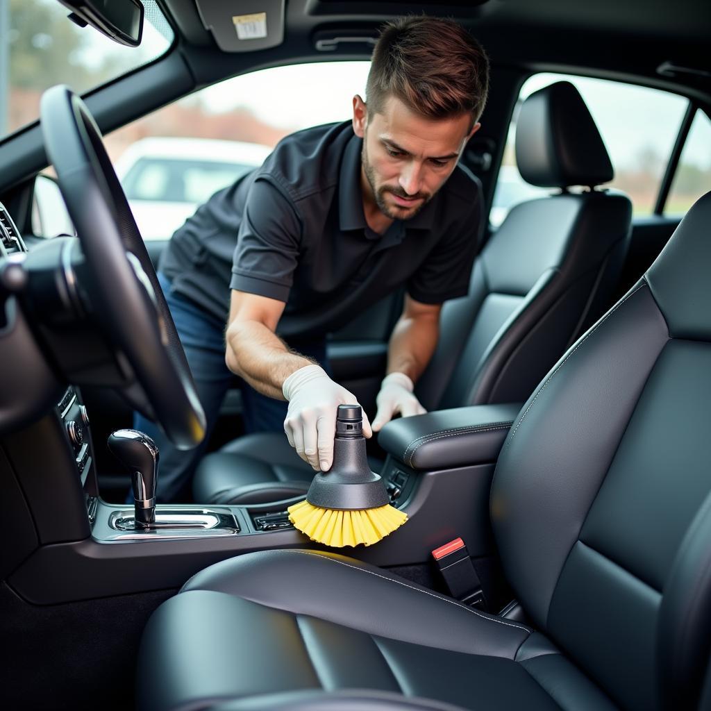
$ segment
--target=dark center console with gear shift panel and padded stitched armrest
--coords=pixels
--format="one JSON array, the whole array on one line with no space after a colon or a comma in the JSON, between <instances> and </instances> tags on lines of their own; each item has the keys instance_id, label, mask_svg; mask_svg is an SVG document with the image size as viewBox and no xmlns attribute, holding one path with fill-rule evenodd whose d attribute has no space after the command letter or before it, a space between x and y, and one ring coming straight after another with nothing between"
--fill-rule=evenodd
<instances>
[{"instance_id":1,"label":"dark center console with gear shift panel and padded stitched armrest","mask_svg":"<svg viewBox=\"0 0 711 711\"><path fill-rule=\"evenodd\" d=\"M488 491L498 451L519 408L465 407L387 424L379 437L388 453L380 474L392 505L404 510L408 521L377 545L343 552L385 567L422 564L432 549L461 537L473 557L491 555ZM98 496L89 417L80 392L70 389L53 415L6 444L9 459L19 459L28 456L32 442L43 443L35 447L33 466L10 463L11 469L35 473L22 485L31 509L25 523L29 531L31 520L36 521L37 535L32 539L28 534L24 552L17 551L19 565L7 577L28 602L56 604L177 588L198 570L245 552L333 550L290 523L286 509L302 497L246 506L159 504L149 525L143 508L137 521L136 508ZM127 479L135 464L128 466ZM10 474L0 464L0 476ZM149 478L133 479L134 496L150 508Z\"/></svg>"}]
</instances>

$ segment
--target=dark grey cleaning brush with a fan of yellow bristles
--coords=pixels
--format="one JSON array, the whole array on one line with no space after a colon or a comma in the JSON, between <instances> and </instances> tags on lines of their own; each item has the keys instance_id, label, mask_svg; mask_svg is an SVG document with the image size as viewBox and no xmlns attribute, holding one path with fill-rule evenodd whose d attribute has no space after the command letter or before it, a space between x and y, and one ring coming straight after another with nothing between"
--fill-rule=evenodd
<instances>
[{"instance_id":1,"label":"dark grey cleaning brush with a fan of yellow bristles","mask_svg":"<svg viewBox=\"0 0 711 711\"><path fill-rule=\"evenodd\" d=\"M363 410L338 405L333 466L314 476L306 501L289 506L289 520L325 545L373 545L407 520L389 502L383 479L370 471L365 456Z\"/></svg>"}]
</instances>

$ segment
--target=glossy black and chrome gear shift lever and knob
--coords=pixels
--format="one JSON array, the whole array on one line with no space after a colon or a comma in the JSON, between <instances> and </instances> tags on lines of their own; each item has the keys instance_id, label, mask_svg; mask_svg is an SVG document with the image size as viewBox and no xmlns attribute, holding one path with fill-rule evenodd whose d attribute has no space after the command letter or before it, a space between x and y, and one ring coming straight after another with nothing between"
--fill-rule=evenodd
<instances>
[{"instance_id":1,"label":"glossy black and chrome gear shift lever and knob","mask_svg":"<svg viewBox=\"0 0 711 711\"><path fill-rule=\"evenodd\" d=\"M158 447L137 429L117 429L109 434L109 451L131 472L136 527L151 528L156 521Z\"/></svg>"}]
</instances>

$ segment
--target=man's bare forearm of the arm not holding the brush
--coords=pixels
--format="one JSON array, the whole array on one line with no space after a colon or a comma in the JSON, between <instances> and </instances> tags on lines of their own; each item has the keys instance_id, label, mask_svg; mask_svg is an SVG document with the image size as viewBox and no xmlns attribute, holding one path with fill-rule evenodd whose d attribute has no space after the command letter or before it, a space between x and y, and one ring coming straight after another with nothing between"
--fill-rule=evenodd
<instances>
[{"instance_id":1,"label":"man's bare forearm of the arm not holding the brush","mask_svg":"<svg viewBox=\"0 0 711 711\"><path fill-rule=\"evenodd\" d=\"M401 316L390 336L387 373L405 373L415 383L427 368L438 338L438 316Z\"/></svg>"}]
</instances>

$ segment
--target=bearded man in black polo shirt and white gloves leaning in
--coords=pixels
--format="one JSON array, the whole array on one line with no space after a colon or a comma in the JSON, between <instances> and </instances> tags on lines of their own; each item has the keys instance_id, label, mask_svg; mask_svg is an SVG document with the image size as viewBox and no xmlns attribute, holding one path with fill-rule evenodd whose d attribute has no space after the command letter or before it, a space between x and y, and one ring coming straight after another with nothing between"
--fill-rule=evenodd
<instances>
[{"instance_id":1,"label":"bearded man in black polo shirt and white gloves leaning in","mask_svg":"<svg viewBox=\"0 0 711 711\"><path fill-rule=\"evenodd\" d=\"M326 334L403 284L372 429L424 412L413 383L437 344L442 302L466 294L476 254L481 190L457 161L487 86L486 55L456 23L389 23L352 121L282 140L173 235L159 277L209 424L230 382L215 360L227 317L225 362L250 386L247 432L283 429L314 470L329 469L336 408L356 398L328 377ZM161 445L166 501L200 450Z\"/></svg>"}]
</instances>

